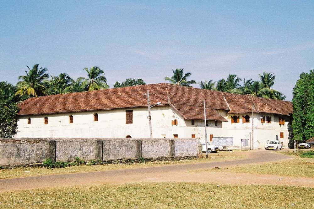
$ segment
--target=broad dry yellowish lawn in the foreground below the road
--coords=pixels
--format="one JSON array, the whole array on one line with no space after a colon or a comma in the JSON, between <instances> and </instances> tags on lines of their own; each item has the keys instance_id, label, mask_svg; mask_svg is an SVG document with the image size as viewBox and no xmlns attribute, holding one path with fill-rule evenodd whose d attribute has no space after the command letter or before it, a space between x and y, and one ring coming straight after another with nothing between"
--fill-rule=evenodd
<instances>
[{"instance_id":1,"label":"broad dry yellowish lawn in the foreground below the road","mask_svg":"<svg viewBox=\"0 0 314 209\"><path fill-rule=\"evenodd\" d=\"M310 208L314 189L271 185L147 183L0 193L0 208Z\"/></svg>"}]
</instances>

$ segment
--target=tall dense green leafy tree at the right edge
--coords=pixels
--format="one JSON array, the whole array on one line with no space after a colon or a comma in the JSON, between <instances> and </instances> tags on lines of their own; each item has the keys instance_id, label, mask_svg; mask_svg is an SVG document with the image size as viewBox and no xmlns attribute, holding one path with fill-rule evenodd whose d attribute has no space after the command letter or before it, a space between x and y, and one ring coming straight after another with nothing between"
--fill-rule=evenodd
<instances>
[{"instance_id":1,"label":"tall dense green leafy tree at the right edge","mask_svg":"<svg viewBox=\"0 0 314 209\"><path fill-rule=\"evenodd\" d=\"M292 130L295 140L314 136L314 70L302 73L293 88Z\"/></svg>"}]
</instances>

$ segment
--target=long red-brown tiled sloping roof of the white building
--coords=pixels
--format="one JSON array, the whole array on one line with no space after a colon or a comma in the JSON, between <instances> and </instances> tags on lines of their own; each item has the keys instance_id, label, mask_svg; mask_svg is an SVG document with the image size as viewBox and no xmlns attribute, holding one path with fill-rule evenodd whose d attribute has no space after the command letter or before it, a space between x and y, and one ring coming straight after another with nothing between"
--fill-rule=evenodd
<instances>
[{"instance_id":1,"label":"long red-brown tiled sloping roof of the white building","mask_svg":"<svg viewBox=\"0 0 314 209\"><path fill-rule=\"evenodd\" d=\"M203 99L208 120L226 121L216 110L226 110L230 114L252 112L253 104L254 112L292 113L291 102L160 83L32 97L19 103L18 115L147 107L147 90L150 92L151 104L161 102L161 105L171 105L186 119L204 119Z\"/></svg>"}]
</instances>

